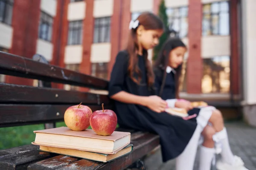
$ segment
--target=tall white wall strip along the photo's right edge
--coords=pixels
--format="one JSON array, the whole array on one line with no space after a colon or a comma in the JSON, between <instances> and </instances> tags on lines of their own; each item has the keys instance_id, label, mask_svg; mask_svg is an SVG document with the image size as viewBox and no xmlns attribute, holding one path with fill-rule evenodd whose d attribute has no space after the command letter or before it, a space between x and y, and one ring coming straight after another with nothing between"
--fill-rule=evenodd
<instances>
[{"instance_id":1,"label":"tall white wall strip along the photo's right edge","mask_svg":"<svg viewBox=\"0 0 256 170\"><path fill-rule=\"evenodd\" d=\"M243 79L245 104L256 104L256 0L242 0Z\"/></svg>"}]
</instances>

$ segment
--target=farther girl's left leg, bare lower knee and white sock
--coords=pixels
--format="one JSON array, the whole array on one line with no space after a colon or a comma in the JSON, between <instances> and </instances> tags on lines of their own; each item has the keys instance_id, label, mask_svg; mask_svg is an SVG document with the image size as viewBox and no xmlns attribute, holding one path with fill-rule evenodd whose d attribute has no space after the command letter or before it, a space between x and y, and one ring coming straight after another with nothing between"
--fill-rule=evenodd
<instances>
[{"instance_id":1,"label":"farther girl's left leg, bare lower knee and white sock","mask_svg":"<svg viewBox=\"0 0 256 170\"><path fill-rule=\"evenodd\" d=\"M200 147L200 164L199 170L210 170L212 158L215 154L214 141L212 136L215 134L215 129L212 126L207 125L202 136L204 137L203 146Z\"/></svg>"}]
</instances>

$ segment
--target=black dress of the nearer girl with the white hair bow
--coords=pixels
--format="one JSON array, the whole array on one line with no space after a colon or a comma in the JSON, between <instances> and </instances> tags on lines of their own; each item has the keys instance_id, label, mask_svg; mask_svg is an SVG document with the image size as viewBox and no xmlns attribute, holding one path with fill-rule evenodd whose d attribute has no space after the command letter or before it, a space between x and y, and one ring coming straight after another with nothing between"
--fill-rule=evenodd
<instances>
[{"instance_id":1,"label":"black dress of the nearer girl with the white hair bow","mask_svg":"<svg viewBox=\"0 0 256 170\"><path fill-rule=\"evenodd\" d=\"M128 76L127 51L119 52L111 73L109 96L120 91L126 91L139 96L155 94L147 86L145 61L142 56L138 56L138 66L142 73L140 85L137 85ZM160 136L164 162L176 158L183 152L197 126L196 122L186 121L165 112L156 113L142 105L126 104L118 101L114 101L114 104L114 111L120 127L148 131Z\"/></svg>"}]
</instances>

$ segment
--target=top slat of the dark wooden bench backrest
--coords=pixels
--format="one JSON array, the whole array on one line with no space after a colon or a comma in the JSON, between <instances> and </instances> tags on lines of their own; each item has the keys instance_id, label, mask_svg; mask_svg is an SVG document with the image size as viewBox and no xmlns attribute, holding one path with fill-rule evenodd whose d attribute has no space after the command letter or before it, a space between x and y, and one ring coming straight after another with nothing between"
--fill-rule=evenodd
<instances>
[{"instance_id":1,"label":"top slat of the dark wooden bench backrest","mask_svg":"<svg viewBox=\"0 0 256 170\"><path fill-rule=\"evenodd\" d=\"M108 81L0 51L0 74L107 90Z\"/></svg>"}]
</instances>

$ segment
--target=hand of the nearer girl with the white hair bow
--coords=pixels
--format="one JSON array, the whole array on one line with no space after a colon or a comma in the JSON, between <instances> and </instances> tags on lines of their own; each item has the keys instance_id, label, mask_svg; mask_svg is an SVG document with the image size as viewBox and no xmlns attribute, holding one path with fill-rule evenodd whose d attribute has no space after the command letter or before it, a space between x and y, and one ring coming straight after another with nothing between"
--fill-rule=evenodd
<instances>
[{"instance_id":1,"label":"hand of the nearer girl with the white hair bow","mask_svg":"<svg viewBox=\"0 0 256 170\"><path fill-rule=\"evenodd\" d=\"M152 111L161 113L165 111L167 107L167 102L159 96L148 96L146 98L146 107L150 108Z\"/></svg>"}]
</instances>

